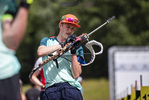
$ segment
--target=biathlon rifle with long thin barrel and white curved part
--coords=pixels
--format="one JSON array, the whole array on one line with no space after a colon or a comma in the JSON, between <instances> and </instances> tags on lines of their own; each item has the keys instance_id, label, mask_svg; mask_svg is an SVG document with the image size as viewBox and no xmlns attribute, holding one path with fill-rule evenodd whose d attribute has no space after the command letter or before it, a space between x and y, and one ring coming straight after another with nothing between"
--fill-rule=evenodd
<instances>
[{"instance_id":1,"label":"biathlon rifle with long thin barrel and white curved part","mask_svg":"<svg viewBox=\"0 0 149 100\"><path fill-rule=\"evenodd\" d=\"M58 57L62 56L64 53L66 53L67 51L71 50L72 46L73 46L76 42L78 42L78 41L84 42L84 41L86 41L86 40L88 41L88 38L89 38L89 36L90 36L91 34L93 34L95 31L99 30L99 29L100 29L101 27L103 27L104 25L110 23L110 21L112 21L114 18L115 18L115 16L112 16L112 17L111 17L110 19L108 19L105 23L103 23L102 25L100 25L99 27L97 27L96 29L94 29L93 31L91 31L90 33L88 33L88 34L83 34L83 35L77 37L77 39L76 39L74 42L67 43L63 48L59 49L59 50L56 52L55 55L53 55L53 56L47 58L46 60L44 60L43 62L41 62L41 63L38 65L38 67L33 68L33 70L31 71L31 73L29 74L29 78L31 78L32 75L33 75L33 73L34 73L36 70L38 70L39 68L41 68L43 65L47 64L47 63L48 63L49 61L51 61L52 59L57 59ZM100 47L101 47L101 50L100 50L99 52L95 53L95 51L94 51L92 45L98 45L98 46L100 46ZM89 63L87 63L87 64L81 64L82 66L87 66L87 65L91 64L91 63L94 61L94 59L95 59L95 55L99 55L99 54L101 54L101 53L103 52L103 46L102 46L102 44L101 44L100 42L95 41L95 40L88 41L85 46L90 50L91 55L92 55L92 58L91 58L91 60L90 60Z\"/></svg>"}]
</instances>

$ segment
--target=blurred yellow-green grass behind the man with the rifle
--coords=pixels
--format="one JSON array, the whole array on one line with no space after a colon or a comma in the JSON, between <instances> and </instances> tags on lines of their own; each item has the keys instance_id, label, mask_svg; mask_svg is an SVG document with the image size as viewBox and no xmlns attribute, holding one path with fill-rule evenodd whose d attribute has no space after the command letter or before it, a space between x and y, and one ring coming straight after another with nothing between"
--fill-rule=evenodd
<instances>
[{"instance_id":1,"label":"blurred yellow-green grass behind the man with the rifle","mask_svg":"<svg viewBox=\"0 0 149 100\"><path fill-rule=\"evenodd\" d=\"M30 87L23 85L23 93ZM83 80L82 87L84 100L109 100L109 81L104 78Z\"/></svg>"}]
</instances>

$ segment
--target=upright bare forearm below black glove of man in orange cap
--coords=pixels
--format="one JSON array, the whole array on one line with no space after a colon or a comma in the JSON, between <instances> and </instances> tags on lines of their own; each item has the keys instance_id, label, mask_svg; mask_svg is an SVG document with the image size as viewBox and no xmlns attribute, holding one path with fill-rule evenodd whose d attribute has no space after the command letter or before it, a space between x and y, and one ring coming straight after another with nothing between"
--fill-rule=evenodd
<instances>
[{"instance_id":1,"label":"upright bare forearm below black glove of man in orange cap","mask_svg":"<svg viewBox=\"0 0 149 100\"><path fill-rule=\"evenodd\" d=\"M78 62L76 54L72 54L71 57L72 57L71 71L72 71L73 77L76 79L82 73L81 64Z\"/></svg>"}]
</instances>

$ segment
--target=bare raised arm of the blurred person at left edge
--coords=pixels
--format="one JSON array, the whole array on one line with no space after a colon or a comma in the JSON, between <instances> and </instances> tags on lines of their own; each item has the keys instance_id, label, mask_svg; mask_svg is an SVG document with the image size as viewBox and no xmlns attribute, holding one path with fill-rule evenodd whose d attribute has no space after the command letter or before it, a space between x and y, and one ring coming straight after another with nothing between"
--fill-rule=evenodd
<instances>
[{"instance_id":1,"label":"bare raised arm of the blurred person at left edge","mask_svg":"<svg viewBox=\"0 0 149 100\"><path fill-rule=\"evenodd\" d=\"M10 29L3 33L3 42L13 50L17 50L27 27L28 10L21 7Z\"/></svg>"}]
</instances>

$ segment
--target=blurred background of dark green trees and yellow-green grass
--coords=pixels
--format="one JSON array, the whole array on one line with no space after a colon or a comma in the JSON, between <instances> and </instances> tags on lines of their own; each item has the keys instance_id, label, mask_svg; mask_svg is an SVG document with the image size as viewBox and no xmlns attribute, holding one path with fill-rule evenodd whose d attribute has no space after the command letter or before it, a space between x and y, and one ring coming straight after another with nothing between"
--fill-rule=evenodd
<instances>
[{"instance_id":1,"label":"blurred background of dark green trees and yellow-green grass","mask_svg":"<svg viewBox=\"0 0 149 100\"><path fill-rule=\"evenodd\" d=\"M70 13L78 17L81 28L76 30L77 36L91 32L115 16L114 20L90 36L89 40L103 44L104 52L96 56L94 63L82 67L81 74L85 100L109 100L108 49L112 46L149 45L148 5L148 0L34 0L27 34L17 51L24 85L29 84L28 75L38 58L37 48L41 39L58 34L61 16ZM84 52L89 51L84 47ZM90 60L89 56L85 55L86 61Z\"/></svg>"}]
</instances>

